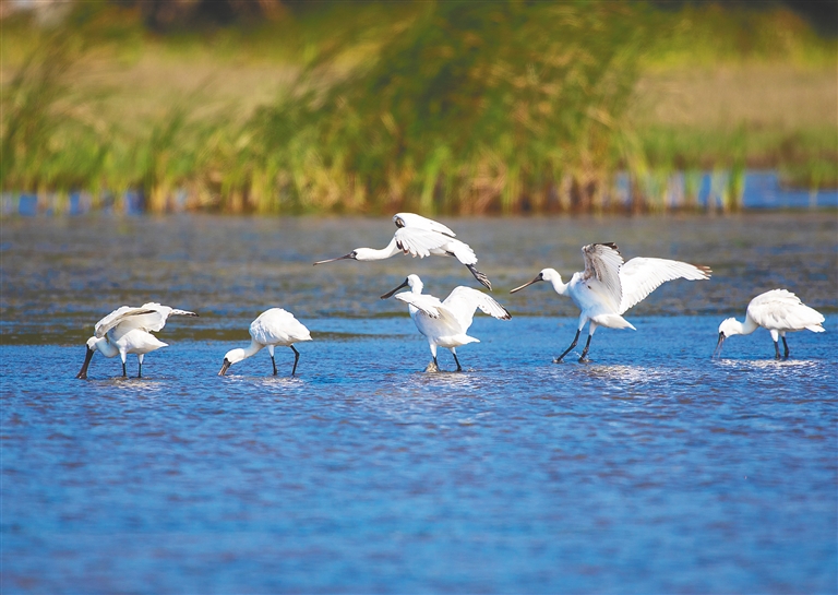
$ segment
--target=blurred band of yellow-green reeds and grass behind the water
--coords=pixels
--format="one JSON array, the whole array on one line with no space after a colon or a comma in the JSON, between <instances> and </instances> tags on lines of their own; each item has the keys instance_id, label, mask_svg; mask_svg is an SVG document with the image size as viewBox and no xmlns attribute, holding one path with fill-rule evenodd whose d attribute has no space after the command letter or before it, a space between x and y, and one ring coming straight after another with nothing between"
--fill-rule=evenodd
<instances>
[{"instance_id":1,"label":"blurred band of yellow-green reeds and grass behind the water","mask_svg":"<svg viewBox=\"0 0 838 595\"><path fill-rule=\"evenodd\" d=\"M5 191L465 214L611 209L616 171L635 209L679 170L687 205L699 170L730 207L746 167L838 185L838 45L778 9L335 2L153 35L80 2L0 25Z\"/></svg>"}]
</instances>

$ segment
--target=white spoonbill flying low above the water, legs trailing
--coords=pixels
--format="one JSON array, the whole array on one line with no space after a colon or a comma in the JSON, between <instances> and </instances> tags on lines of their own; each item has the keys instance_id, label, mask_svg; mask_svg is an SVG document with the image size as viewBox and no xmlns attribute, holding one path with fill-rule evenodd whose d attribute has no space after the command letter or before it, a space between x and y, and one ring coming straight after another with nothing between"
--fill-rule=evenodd
<instances>
[{"instance_id":1,"label":"white spoonbill flying low above the water, legs trailing","mask_svg":"<svg viewBox=\"0 0 838 595\"><path fill-rule=\"evenodd\" d=\"M456 234L446 226L433 219L422 217L415 213L396 213L393 215L393 223L396 224L396 234L386 248L376 250L374 248L356 248L348 254L337 257L336 259L321 260L314 264L334 262L336 260L384 260L399 252L410 254L414 258L419 257L454 257L471 271L475 278L479 281L487 289L492 290L492 284L483 273L475 267L477 257L471 248L455 239Z\"/></svg>"}]
</instances>

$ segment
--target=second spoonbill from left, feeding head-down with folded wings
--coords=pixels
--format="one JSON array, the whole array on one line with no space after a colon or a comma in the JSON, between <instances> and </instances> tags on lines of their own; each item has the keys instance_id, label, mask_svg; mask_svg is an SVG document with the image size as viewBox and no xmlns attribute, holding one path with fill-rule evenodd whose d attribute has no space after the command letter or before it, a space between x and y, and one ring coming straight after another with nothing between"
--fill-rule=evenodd
<instances>
[{"instance_id":1,"label":"second spoonbill from left, feeding head-down with folded wings","mask_svg":"<svg viewBox=\"0 0 838 595\"><path fill-rule=\"evenodd\" d=\"M294 352L294 369L291 370L291 376L294 376L297 373L297 361L300 359L300 352L294 344L300 341L311 341L309 330L294 318L291 312L282 308L271 308L259 314L259 318L250 323L250 336L249 347L227 352L218 376L224 376L230 366L258 354L264 347L267 347L267 353L271 354L271 362L274 365L274 376L276 376L276 360L274 359L276 345L290 347Z\"/></svg>"}]
</instances>

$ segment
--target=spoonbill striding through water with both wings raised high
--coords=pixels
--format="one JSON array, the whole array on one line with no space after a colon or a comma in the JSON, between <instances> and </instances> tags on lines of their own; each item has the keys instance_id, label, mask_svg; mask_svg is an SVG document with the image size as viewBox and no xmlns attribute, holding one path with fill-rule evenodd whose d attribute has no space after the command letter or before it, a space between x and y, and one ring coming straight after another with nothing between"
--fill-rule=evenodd
<instances>
[{"instance_id":1,"label":"spoonbill striding through water with both wings raised high","mask_svg":"<svg viewBox=\"0 0 838 595\"><path fill-rule=\"evenodd\" d=\"M562 276L554 269L544 269L529 283L510 291L514 294L539 281L549 281L556 294L570 296L582 310L576 336L571 346L553 360L555 364L562 361L576 346L586 322L590 322L588 341L579 361L585 361L590 337L597 326L636 330L622 317L628 308L643 301L667 281L707 279L711 273L707 266L677 260L635 258L623 263L623 257L614 243L590 243L582 249L582 253L585 257L585 271L574 273L570 283L562 283Z\"/></svg>"}]
</instances>

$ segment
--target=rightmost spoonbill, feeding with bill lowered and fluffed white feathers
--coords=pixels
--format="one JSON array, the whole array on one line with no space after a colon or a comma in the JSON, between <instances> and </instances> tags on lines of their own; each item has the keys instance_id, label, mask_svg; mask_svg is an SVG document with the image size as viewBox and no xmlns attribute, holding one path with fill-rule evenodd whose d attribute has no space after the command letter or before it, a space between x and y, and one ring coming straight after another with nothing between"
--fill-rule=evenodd
<instances>
[{"instance_id":1,"label":"rightmost spoonbill, feeding with bill lowered and fluffed white feathers","mask_svg":"<svg viewBox=\"0 0 838 595\"><path fill-rule=\"evenodd\" d=\"M785 359L789 358L789 344L786 333L804 329L813 333L823 333L824 316L810 308L800 298L786 289L771 289L759 294L747 305L744 324L734 318L729 318L719 324L719 342L716 344L714 356L721 353L721 344L733 335L750 335L759 326L768 329L774 340L776 358L780 359L779 337L782 337Z\"/></svg>"}]
</instances>

